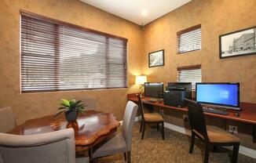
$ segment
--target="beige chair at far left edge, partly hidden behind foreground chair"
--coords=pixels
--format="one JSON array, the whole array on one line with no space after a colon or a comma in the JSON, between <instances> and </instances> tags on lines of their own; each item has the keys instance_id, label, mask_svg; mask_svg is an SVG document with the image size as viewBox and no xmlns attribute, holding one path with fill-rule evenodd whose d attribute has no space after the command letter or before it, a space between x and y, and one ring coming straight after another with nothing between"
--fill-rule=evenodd
<instances>
[{"instance_id":1,"label":"beige chair at far left edge, partly hidden behind foreground chair","mask_svg":"<svg viewBox=\"0 0 256 163\"><path fill-rule=\"evenodd\" d=\"M0 109L0 132L9 132L16 126L12 107Z\"/></svg>"}]
</instances>

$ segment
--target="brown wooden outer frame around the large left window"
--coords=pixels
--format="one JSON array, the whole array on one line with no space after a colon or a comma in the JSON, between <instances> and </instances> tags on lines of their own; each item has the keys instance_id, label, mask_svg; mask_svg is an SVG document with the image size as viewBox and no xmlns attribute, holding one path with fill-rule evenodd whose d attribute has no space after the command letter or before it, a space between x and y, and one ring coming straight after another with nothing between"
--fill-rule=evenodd
<instances>
[{"instance_id":1,"label":"brown wooden outer frame around the large left window","mask_svg":"<svg viewBox=\"0 0 256 163\"><path fill-rule=\"evenodd\" d=\"M56 24L56 25L60 25L60 26L64 26L64 27L71 27L75 30L79 30L79 31L86 31L86 32L89 32L89 33L92 33L92 34L99 34L99 35L102 35L104 37L106 37L107 39L109 38L114 38L114 39L118 39L118 40L121 40L123 41L123 43L125 44L123 48L123 51L126 51L125 54L126 56L124 56L124 60L126 60L126 63L123 65L124 68L123 68L123 75L124 75L124 78L126 78L126 80L124 80L124 86L122 87L101 87L101 88L82 88L82 89L44 89L44 90L41 90L41 89L38 89L38 90L22 90L22 74L21 74L21 67L22 67L22 62L21 62L21 58L22 58L22 49L21 49L21 44L22 44L22 41L21 41L21 16L28 16L32 19L36 19L36 20L42 20L42 21L45 21L49 24ZM90 28L87 28L87 27L82 27L82 26L79 26L79 25L75 25L75 24L70 24L70 23L67 23L67 22L64 22L64 21L61 21L61 20L55 20L53 18L49 18L47 16L41 16L41 15L38 15L38 14L35 14L35 13L30 13L30 12L27 12L23 9L20 9L20 92L21 93L27 93L27 92L60 92L60 91L77 91L77 90L93 90L93 89L126 89L128 88L128 85L129 85L129 82L128 82L128 39L127 38L123 38L123 37L119 37L119 36L116 36L114 34L107 34L107 33L104 33L104 32L101 32L101 31L97 31L97 30L93 30L93 29L90 29ZM106 55L106 57L108 57L108 55ZM109 66L109 65L108 65ZM107 74L106 78L108 78L109 74ZM56 78L60 78L60 76L56 76Z\"/></svg>"}]
</instances>

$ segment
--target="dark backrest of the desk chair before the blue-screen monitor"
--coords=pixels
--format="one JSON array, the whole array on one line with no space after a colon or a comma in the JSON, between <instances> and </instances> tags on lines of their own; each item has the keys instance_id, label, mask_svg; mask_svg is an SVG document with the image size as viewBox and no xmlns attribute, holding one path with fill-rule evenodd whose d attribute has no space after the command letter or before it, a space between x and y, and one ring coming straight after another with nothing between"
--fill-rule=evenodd
<instances>
[{"instance_id":1,"label":"dark backrest of the desk chair before the blue-screen monitor","mask_svg":"<svg viewBox=\"0 0 256 163\"><path fill-rule=\"evenodd\" d=\"M209 141L203 107L194 100L186 101L188 103L188 120L192 131L195 130L204 140Z\"/></svg>"}]
</instances>

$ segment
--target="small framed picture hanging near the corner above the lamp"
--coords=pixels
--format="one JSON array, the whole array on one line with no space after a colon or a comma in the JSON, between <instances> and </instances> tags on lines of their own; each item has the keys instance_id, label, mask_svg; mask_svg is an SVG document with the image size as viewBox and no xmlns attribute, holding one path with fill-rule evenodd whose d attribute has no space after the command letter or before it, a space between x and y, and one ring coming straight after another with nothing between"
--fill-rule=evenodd
<instances>
[{"instance_id":1,"label":"small framed picture hanging near the corner above the lamp","mask_svg":"<svg viewBox=\"0 0 256 163\"><path fill-rule=\"evenodd\" d=\"M164 65L164 50L148 53L148 67L159 67Z\"/></svg>"}]
</instances>

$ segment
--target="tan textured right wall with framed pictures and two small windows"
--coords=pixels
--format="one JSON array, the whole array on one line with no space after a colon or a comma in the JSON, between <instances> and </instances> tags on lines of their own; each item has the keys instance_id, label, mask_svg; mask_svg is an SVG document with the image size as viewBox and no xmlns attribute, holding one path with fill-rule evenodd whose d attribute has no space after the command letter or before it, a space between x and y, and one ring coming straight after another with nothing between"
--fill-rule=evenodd
<instances>
[{"instance_id":1,"label":"tan textured right wall with framed pictures and two small windows","mask_svg":"<svg viewBox=\"0 0 256 163\"><path fill-rule=\"evenodd\" d=\"M255 0L193 0L148 24L143 72L150 82L177 82L177 67L202 65L203 82L240 82L240 100L256 103L256 55L219 59L218 36L256 25ZM202 50L177 54L177 31L202 25ZM165 49L165 66L148 68L148 53Z\"/></svg>"}]
</instances>

